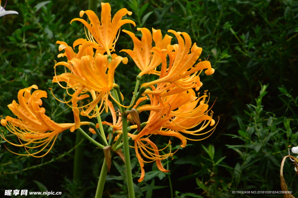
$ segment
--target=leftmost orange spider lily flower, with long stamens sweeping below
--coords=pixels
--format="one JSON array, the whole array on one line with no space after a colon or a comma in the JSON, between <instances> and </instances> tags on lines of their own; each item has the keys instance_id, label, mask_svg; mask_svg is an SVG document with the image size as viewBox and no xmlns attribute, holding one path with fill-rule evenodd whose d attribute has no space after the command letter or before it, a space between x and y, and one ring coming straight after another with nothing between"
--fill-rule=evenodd
<instances>
[{"instance_id":1,"label":"leftmost orange spider lily flower, with long stamens sweeping below","mask_svg":"<svg viewBox=\"0 0 298 198\"><path fill-rule=\"evenodd\" d=\"M15 146L24 146L25 149L34 149L45 145L40 151L35 153L29 153L26 149L28 153L27 155L40 158L49 153L60 132L63 132L66 129L70 129L70 131L73 132L75 130L75 124L58 124L52 121L48 116L46 116L46 110L40 106L42 105L41 98L46 98L47 93L46 91L35 90L31 94L32 88L38 89L36 85L32 85L31 87L21 89L18 92L19 104L16 103L15 100L13 100L13 102L10 105L7 105L8 108L13 112L13 114L18 117L18 119L12 118L10 116L5 117L5 119L1 119L1 124L5 126L7 130L9 130L11 133L17 135L21 144L11 143L4 136L2 136L1 134L0 135L8 143ZM81 122L80 124L86 125L89 124L89 122ZM43 151L53 139L54 141L50 149L44 155L35 156L36 154ZM22 141L26 143L23 143ZM39 145L34 147L28 146L31 143Z\"/></svg>"}]
</instances>

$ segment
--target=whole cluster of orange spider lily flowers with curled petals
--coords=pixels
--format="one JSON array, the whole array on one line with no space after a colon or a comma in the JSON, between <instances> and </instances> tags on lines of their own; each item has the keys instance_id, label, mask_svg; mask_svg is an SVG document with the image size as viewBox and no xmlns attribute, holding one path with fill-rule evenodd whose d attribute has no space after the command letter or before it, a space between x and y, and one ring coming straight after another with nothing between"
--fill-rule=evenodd
<instances>
[{"instance_id":1,"label":"whole cluster of orange spider lily flowers with curled petals","mask_svg":"<svg viewBox=\"0 0 298 198\"><path fill-rule=\"evenodd\" d=\"M109 125L113 132L122 133L121 116L124 114L120 114L123 113L121 108L126 106L122 103L122 94L115 97L114 90L119 86L114 83L114 72L121 62L127 64L128 58L111 53L115 52L120 27L127 23L134 26L136 24L128 19L122 20L124 15L131 15L131 12L125 8L119 10L111 19L110 4L101 3L101 6L101 21L91 10L80 12L80 17L84 14L88 15L90 23L80 18L71 21L80 21L85 26L85 32L87 29L87 39L80 38L72 45L74 49L78 46L78 53L75 53L67 43L57 41L57 44L60 44L59 51L64 50L58 55L58 58L67 57L67 62L62 61L55 64L53 82L66 89L70 99L64 98L62 101L55 96L55 93L52 94L57 100L72 108L74 123L57 124L49 119L45 115L45 109L39 107L42 104L41 97L46 97L46 92L37 90L30 94L31 88L37 89L36 85L22 89L18 94L20 105L15 101L8 105L18 119L7 116L1 120L1 124L17 135L21 142L27 142L18 146L35 148L27 145L38 143L46 147L63 130L70 128L71 131L74 131L80 125L88 124L81 122L80 116L94 118L100 116L103 110L111 111L113 123L103 121L99 125ZM161 160L173 156L175 153L170 150L169 153L161 155L160 151L163 149L159 149L149 139L151 135L174 136L181 140L180 146L185 147L187 140L199 141L208 138L215 130L216 125L212 119L213 112L208 106L207 91L202 95L195 92L203 85L199 77L201 72L205 69L206 75L214 73L209 61L198 60L202 48L198 47L196 43L192 45L190 36L186 32L168 30L178 40L177 44L172 45L172 37L169 35L162 37L161 30L152 28L152 33L147 28L137 28L137 30L142 33L141 40L136 38L134 33L122 30L132 38L134 49L123 49L120 52L126 52L134 60L136 66L141 70L138 74L139 78L146 74L157 76L156 80L141 85L139 95L136 96L137 93L134 93L133 101L128 106L129 110L133 107L137 113L149 112L145 127L140 129L139 126L131 125L129 126L131 129L138 128L138 130L135 133L128 133L128 136L134 141L134 146L131 147L134 147L141 167L139 179L141 182L145 176L144 163L155 161L160 171L169 172L163 168ZM153 41L154 46L152 45ZM65 72L56 74L57 66L64 66ZM78 101L89 97L91 101L88 100L88 104L78 105ZM147 104L143 102L142 104L145 105L140 106L142 101L147 101ZM112 102L116 104L120 114L117 114ZM119 116L118 119L117 116ZM128 115L128 123L134 121L130 117L133 118L132 114ZM97 124L97 128L99 125ZM201 133L208 126L213 127ZM90 132L95 133L94 129L90 129ZM205 136L204 138L190 138L190 135ZM117 138L114 140L116 141ZM171 142L168 146L170 144ZM28 155L35 154L37 153ZM147 158L148 161L143 158Z\"/></svg>"}]
</instances>

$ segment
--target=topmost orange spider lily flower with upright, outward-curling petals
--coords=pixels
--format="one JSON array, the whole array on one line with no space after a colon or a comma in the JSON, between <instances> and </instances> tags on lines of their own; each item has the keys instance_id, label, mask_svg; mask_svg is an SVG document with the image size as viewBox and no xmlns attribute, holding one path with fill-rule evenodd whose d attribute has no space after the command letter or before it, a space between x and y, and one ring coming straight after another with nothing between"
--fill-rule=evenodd
<instances>
[{"instance_id":1,"label":"topmost orange spider lily flower with upright, outward-curling petals","mask_svg":"<svg viewBox=\"0 0 298 198\"><path fill-rule=\"evenodd\" d=\"M82 22L88 29L88 34L86 36L89 41L94 43L94 45L104 49L108 55L114 51L115 43L118 38L116 34L118 29L124 24L131 23L136 26L135 22L129 19L121 20L122 17L126 14L131 15L132 12L129 12L126 8L122 8L115 15L111 21L111 6L109 3L101 3L101 23L99 18L92 10L80 11L80 17L86 13L90 20L90 24L87 21L81 18L75 18L72 21ZM72 23L72 21L70 23ZM119 36L119 34L118 34ZM113 46L114 45L114 46ZM110 50L111 49L111 50Z\"/></svg>"}]
</instances>

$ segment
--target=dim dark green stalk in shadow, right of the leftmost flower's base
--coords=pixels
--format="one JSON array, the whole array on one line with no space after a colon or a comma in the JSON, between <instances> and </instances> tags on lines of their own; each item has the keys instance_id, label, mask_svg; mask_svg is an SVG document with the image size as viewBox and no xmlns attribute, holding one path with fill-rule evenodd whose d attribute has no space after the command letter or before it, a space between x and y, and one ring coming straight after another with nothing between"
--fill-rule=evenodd
<instances>
[{"instance_id":1,"label":"dim dark green stalk in shadow, right of the leftmost flower's base","mask_svg":"<svg viewBox=\"0 0 298 198\"><path fill-rule=\"evenodd\" d=\"M75 144L79 144L80 141L84 141L83 135L76 131L76 139ZM74 172L73 172L73 180L74 181L80 181L82 179L82 173L83 173L83 158L84 158L84 145L80 144L75 149L75 159L74 159Z\"/></svg>"}]
</instances>

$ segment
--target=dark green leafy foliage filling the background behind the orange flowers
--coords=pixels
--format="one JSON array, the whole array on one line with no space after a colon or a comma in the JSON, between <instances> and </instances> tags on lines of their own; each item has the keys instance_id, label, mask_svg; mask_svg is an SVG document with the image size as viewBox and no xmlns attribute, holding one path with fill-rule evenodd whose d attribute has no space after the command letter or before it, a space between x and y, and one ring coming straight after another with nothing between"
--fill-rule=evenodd
<instances>
[{"instance_id":1,"label":"dark green leafy foliage filling the background behind the orange flowers","mask_svg":"<svg viewBox=\"0 0 298 198\"><path fill-rule=\"evenodd\" d=\"M38 4L40 2L44 2L44 6ZM135 20L137 27L161 29L163 35L168 29L187 32L193 43L196 42L197 46L203 48L200 58L204 60L209 56L208 60L215 68L215 73L211 76L201 74L203 86L200 91L208 90L211 93L210 104L217 98L212 110L215 112L215 117L220 118L219 124L208 139L198 142L188 141L193 145L179 150L175 154L176 158L169 163L174 196L199 197L201 194L203 197L245 197L231 192L280 190L280 163L283 156L287 155L287 146L297 146L298 136L297 129L294 129L297 127L298 113L296 98L298 1L105 2L111 4L112 15L122 7L132 11L133 14L126 18ZM2 6L4 3L2 2ZM100 2L98 7L97 14L100 15ZM16 10L19 15L5 15L0 18L0 115L12 116L7 105L12 100L17 100L19 89L32 84L47 91L51 87L55 95L63 99L64 90L52 83L54 60L66 60L57 58L58 44L55 43L60 40L72 45L76 39L85 38L82 24L79 22L69 24L69 22L73 18L79 18L80 10L87 8L86 0L8 1L6 10ZM122 29L134 32L139 38L141 36L140 32L129 24ZM121 49L133 49L131 38L123 32L120 33L116 53L128 57L124 52L119 53ZM127 65L121 64L116 70L116 83L120 85L122 93L128 100L131 99L138 73L139 70L131 59ZM151 75L144 77L142 82L149 81L151 77ZM259 97L259 103L256 104L255 98L260 95L261 90L259 82L269 86L266 90L268 93L261 98L262 103ZM250 111L246 104L257 107L256 109L252 107L254 111ZM43 100L43 105L47 110L46 114L54 121L73 122L72 111L55 100L50 92L48 98ZM252 114L247 115L243 110ZM108 114L103 114L103 117L108 121L111 120ZM254 128L254 131L251 128ZM4 127L1 129L6 135ZM257 130L260 130L259 137ZM11 141L17 142L15 138L7 135ZM265 141L268 136L268 141ZM168 140L168 137L156 139L159 146ZM180 144L175 139L171 141L173 146ZM75 134L69 130L59 135L55 146L44 158L21 159L7 151L4 142L1 139L0 164L10 161L12 163L0 165L1 196L6 189L39 191L41 185L38 184L41 183L49 191L62 191L64 197L94 197L103 160L102 151L95 149L94 145L87 141L83 143L85 147L83 177L82 182L76 183L72 182L74 152L50 164L23 171L28 167L55 159L72 149L75 146ZM14 152L25 154L22 148L7 146ZM215 152L212 152L212 148ZM222 157L226 158L215 164ZM116 158L115 162L123 166L121 160ZM118 177L117 169L121 172L121 167L116 168L117 165L112 166L111 174ZM146 164L145 170L153 171L149 175L154 179L147 178L148 184L155 182L157 186L167 187L153 190L153 195L150 190L143 191L144 197L170 197L169 177L156 175L154 173L156 167L152 167L152 164ZM15 171L18 173L6 174ZM133 172L137 171L138 166ZM289 160L286 160L284 174L289 189L293 194L296 193L297 176L294 176L294 166ZM120 198L121 192L125 194L125 187L120 185L123 183L121 179L117 181L118 184L114 181L117 180L113 180L112 177L108 180L105 197L114 194L114 197ZM197 189L198 187L200 188ZM175 194L175 191L182 194L178 192ZM142 197L141 194L142 192L138 193L138 196ZM271 196L283 197L282 194Z\"/></svg>"}]
</instances>

